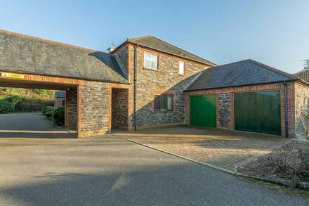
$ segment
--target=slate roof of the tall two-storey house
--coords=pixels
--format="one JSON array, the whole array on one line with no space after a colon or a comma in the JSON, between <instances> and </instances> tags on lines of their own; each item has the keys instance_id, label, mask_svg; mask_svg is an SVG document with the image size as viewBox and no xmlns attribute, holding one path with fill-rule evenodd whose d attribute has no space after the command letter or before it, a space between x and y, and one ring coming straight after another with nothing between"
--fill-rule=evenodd
<instances>
[{"instance_id":1,"label":"slate roof of the tall two-storey house","mask_svg":"<svg viewBox=\"0 0 309 206\"><path fill-rule=\"evenodd\" d=\"M180 56L182 58L188 58L190 60L195 60L199 63L204 63L206 65L216 66L215 63L211 63L209 60L200 58L199 56L196 56L192 53L189 53L188 51L180 49L177 46L173 46L165 41L162 41L161 39L158 39L157 37L152 37L150 35L128 39L126 42L130 42L133 44L139 44L141 46L146 46L150 49L155 49L158 51L163 51L166 53L173 54L175 56Z\"/></svg>"}]
</instances>

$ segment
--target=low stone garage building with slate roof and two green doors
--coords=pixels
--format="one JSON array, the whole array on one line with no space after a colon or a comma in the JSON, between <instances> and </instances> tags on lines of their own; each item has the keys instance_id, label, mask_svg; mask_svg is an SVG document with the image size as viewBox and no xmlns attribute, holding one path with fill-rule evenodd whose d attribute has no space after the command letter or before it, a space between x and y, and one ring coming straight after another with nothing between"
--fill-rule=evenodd
<instances>
[{"instance_id":1,"label":"low stone garage building with slate roof and two green doors","mask_svg":"<svg viewBox=\"0 0 309 206\"><path fill-rule=\"evenodd\" d=\"M254 60L204 70L185 89L187 124L198 118L190 117L195 115L190 106L195 103L192 97L213 97L213 107L208 108L218 128L304 135L301 119L304 112L309 112L308 82ZM210 113L204 115L208 120Z\"/></svg>"}]
</instances>

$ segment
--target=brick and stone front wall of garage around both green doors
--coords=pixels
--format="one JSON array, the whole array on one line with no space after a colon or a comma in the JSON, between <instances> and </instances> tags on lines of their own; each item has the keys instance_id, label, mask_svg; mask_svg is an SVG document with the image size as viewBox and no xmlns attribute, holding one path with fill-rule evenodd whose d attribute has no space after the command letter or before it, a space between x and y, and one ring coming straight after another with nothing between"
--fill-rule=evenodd
<instances>
[{"instance_id":1,"label":"brick and stone front wall of garage around both green doors","mask_svg":"<svg viewBox=\"0 0 309 206\"><path fill-rule=\"evenodd\" d=\"M295 95L294 88L295 82L288 82L288 121L289 121L289 136L296 136L295 130ZM235 129L234 120L234 94L238 92L247 91L281 91L281 134L285 136L285 117L284 117L284 84L283 83L272 83L272 84L256 84L251 86L235 86L220 89L206 89L199 91L187 91L185 92L185 123L190 124L190 96L193 95L216 95L216 116L217 116L217 128L223 129Z\"/></svg>"}]
</instances>

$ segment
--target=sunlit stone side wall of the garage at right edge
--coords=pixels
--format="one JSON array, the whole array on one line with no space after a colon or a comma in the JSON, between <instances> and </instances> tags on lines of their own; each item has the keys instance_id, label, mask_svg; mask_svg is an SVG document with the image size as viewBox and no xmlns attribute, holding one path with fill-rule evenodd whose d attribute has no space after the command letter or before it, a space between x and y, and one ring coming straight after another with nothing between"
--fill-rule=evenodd
<instances>
[{"instance_id":1,"label":"sunlit stone side wall of the garage at right edge","mask_svg":"<svg viewBox=\"0 0 309 206\"><path fill-rule=\"evenodd\" d=\"M297 83L295 85L295 130L296 136L301 139L309 138L305 132L305 114L309 114L309 86Z\"/></svg>"}]
</instances>

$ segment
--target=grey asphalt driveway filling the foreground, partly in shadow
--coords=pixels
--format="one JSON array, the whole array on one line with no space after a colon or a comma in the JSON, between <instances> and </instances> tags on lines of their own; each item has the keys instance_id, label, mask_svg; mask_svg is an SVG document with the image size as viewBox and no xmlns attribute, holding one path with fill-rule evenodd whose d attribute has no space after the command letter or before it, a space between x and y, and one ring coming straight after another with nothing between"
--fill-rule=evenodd
<instances>
[{"instance_id":1,"label":"grey asphalt driveway filling the foreground, partly in shadow","mask_svg":"<svg viewBox=\"0 0 309 206\"><path fill-rule=\"evenodd\" d=\"M1 205L308 205L112 135L0 151Z\"/></svg>"}]
</instances>

